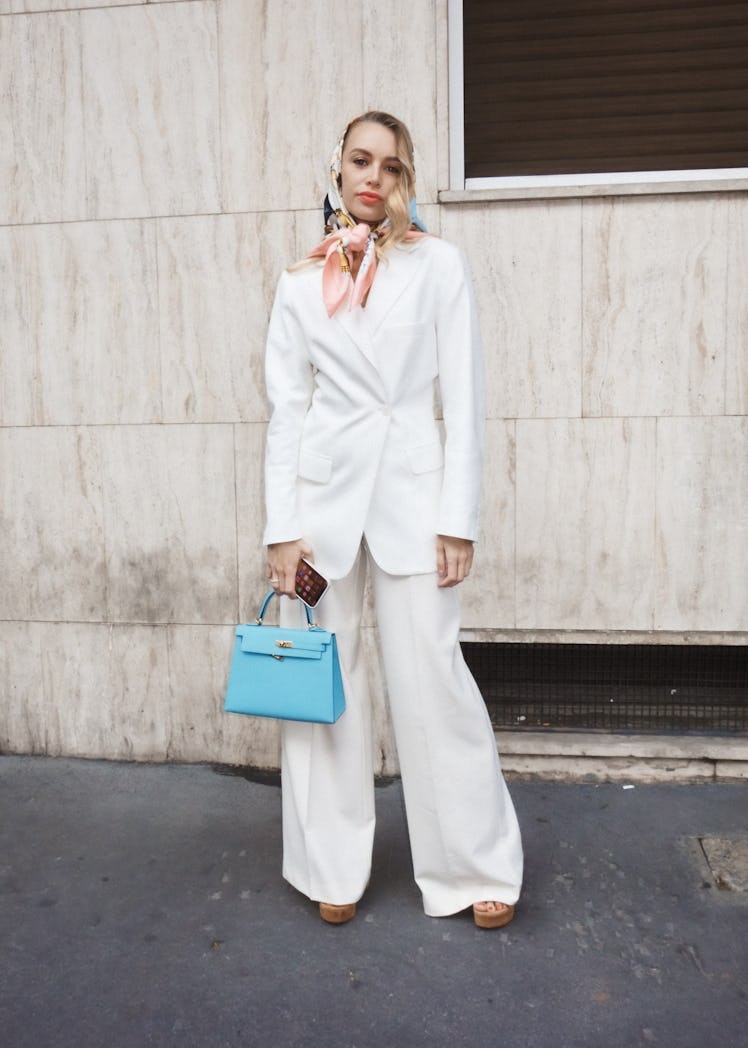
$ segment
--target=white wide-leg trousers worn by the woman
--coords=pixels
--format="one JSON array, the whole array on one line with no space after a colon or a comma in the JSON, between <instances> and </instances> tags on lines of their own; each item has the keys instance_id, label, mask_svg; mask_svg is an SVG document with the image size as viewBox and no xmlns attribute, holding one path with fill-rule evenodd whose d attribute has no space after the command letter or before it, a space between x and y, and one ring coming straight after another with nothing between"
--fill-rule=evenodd
<instances>
[{"instance_id":1,"label":"white wide-leg trousers worn by the woman","mask_svg":"<svg viewBox=\"0 0 748 1048\"><path fill-rule=\"evenodd\" d=\"M310 899L357 901L371 873L374 777L360 618L367 562L402 778L416 882L432 917L482 899L513 903L522 842L483 698L458 642L459 604L436 574L388 575L361 547L315 620L337 636L346 712L336 724L286 721L283 875ZM284 624L300 609L282 602Z\"/></svg>"}]
</instances>

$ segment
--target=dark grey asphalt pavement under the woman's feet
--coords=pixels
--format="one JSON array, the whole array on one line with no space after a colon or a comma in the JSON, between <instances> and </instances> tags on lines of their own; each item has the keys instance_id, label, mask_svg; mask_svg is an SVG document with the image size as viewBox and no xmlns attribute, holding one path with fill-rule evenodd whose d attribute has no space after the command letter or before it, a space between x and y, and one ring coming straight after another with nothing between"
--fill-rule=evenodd
<instances>
[{"instance_id":1,"label":"dark grey asphalt pavement under the woman's feet","mask_svg":"<svg viewBox=\"0 0 748 1048\"><path fill-rule=\"evenodd\" d=\"M0 1044L748 1045L746 786L509 786L510 925L423 915L393 781L335 927L281 878L273 776L0 757Z\"/></svg>"}]
</instances>

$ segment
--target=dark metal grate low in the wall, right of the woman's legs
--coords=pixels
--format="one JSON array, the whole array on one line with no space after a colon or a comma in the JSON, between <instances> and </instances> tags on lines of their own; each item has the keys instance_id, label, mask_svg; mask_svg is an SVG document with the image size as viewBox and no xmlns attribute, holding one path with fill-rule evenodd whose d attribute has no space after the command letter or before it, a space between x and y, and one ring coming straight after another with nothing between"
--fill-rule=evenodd
<instances>
[{"instance_id":1,"label":"dark metal grate low in the wall, right of the woman's legs","mask_svg":"<svg viewBox=\"0 0 748 1048\"><path fill-rule=\"evenodd\" d=\"M494 727L748 732L748 647L480 643Z\"/></svg>"}]
</instances>

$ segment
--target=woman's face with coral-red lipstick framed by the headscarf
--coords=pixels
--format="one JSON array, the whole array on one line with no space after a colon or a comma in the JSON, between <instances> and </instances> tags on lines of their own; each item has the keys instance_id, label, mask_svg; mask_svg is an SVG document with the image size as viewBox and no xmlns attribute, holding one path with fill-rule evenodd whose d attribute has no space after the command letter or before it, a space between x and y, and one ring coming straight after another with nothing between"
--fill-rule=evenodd
<instances>
[{"instance_id":1,"label":"woman's face with coral-red lipstick framed by the headscarf","mask_svg":"<svg viewBox=\"0 0 748 1048\"><path fill-rule=\"evenodd\" d=\"M401 167L394 131L372 121L356 124L348 133L340 167L340 196L348 213L370 225L380 222Z\"/></svg>"}]
</instances>

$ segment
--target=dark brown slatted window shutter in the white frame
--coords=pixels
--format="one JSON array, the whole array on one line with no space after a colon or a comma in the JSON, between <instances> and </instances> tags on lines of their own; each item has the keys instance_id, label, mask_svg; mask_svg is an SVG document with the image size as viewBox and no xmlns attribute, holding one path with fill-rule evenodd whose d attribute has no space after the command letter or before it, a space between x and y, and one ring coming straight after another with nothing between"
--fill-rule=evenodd
<instances>
[{"instance_id":1,"label":"dark brown slatted window shutter in the white frame","mask_svg":"<svg viewBox=\"0 0 748 1048\"><path fill-rule=\"evenodd\" d=\"M463 0L465 177L748 167L748 0Z\"/></svg>"}]
</instances>

